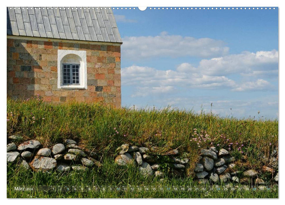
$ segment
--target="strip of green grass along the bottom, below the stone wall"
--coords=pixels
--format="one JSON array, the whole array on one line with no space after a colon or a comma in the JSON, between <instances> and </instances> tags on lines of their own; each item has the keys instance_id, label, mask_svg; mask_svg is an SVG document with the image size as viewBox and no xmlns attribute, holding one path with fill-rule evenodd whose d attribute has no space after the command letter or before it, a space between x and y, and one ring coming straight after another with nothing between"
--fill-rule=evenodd
<instances>
[{"instance_id":1,"label":"strip of green grass along the bottom, below the stone wall","mask_svg":"<svg viewBox=\"0 0 285 205\"><path fill-rule=\"evenodd\" d=\"M134 191L108 191L107 186L126 186L132 185ZM93 187L104 186L105 191L84 191L84 192L40 192L40 191L15 191L15 187L32 187L32 186L75 186ZM235 184L237 187L243 187L241 184ZM142 188L138 190L136 186ZM178 187L178 191L173 189ZM187 186L192 190L188 191ZM148 187L149 190L144 190ZM152 187L156 187L156 191L151 191ZM159 190L160 187L164 189ZM167 190L170 187L171 190ZM184 187L187 191L179 190ZM59 173L51 172L32 172L21 169L20 165L14 163L7 167L7 197L8 198L276 198L278 197L278 189L276 190L253 190L248 191L244 188L235 191L228 188L224 190L225 184L219 184L220 190L215 187L210 189L210 184L198 184L191 177L165 177L161 182L156 177L143 177L140 175L138 168L135 166L120 167L113 162L112 158L103 160L102 168L94 168L88 172ZM199 190L195 190L199 188ZM202 190L204 188L205 190Z\"/></svg>"}]
</instances>

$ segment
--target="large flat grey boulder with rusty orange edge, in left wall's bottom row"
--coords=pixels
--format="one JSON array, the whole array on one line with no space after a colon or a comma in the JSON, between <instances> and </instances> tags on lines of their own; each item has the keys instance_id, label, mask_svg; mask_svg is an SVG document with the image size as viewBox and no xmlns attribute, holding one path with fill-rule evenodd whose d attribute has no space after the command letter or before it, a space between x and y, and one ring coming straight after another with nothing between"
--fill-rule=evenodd
<instances>
[{"instance_id":1,"label":"large flat grey boulder with rusty orange edge, in left wall's bottom row","mask_svg":"<svg viewBox=\"0 0 285 205\"><path fill-rule=\"evenodd\" d=\"M37 170L51 170L57 165L56 160L50 157L35 157L30 166L34 171Z\"/></svg>"}]
</instances>

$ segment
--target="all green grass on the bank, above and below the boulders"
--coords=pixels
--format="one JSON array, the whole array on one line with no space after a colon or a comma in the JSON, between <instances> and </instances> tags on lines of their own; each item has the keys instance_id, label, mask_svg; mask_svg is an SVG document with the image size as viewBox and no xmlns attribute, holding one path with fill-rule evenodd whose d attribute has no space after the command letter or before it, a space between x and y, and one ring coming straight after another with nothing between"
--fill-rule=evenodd
<instances>
[{"instance_id":1,"label":"all green grass on the bank, above and below the boulders","mask_svg":"<svg viewBox=\"0 0 285 205\"><path fill-rule=\"evenodd\" d=\"M119 132L116 134L114 128ZM194 129L197 129L196 132ZM216 146L229 148L237 159L238 168L257 169L262 166L261 157L269 156L273 147L278 147L278 120L254 120L221 118L211 114L195 114L192 111L142 109L112 109L99 104L45 104L41 100L14 101L7 99L7 136L20 134L24 140L37 139L44 147L51 147L63 139L74 139L81 146L94 149L101 156L103 168L84 174L72 173L61 175L56 172L32 173L22 172L17 165L7 167L7 197L28 197L21 192L14 192L11 187L16 185L58 185L84 184L92 185L93 181L102 184L151 184L159 185L158 179L141 177L137 168L122 169L114 164L115 150L122 143L135 146L160 146L161 155L178 148L181 154L190 159L187 174L191 176L194 165L198 161L200 148ZM207 137L205 135L207 134ZM193 136L192 136L193 135ZM193 138L203 135L207 138L199 145ZM228 140L227 140L228 139ZM17 142L16 144L18 145ZM238 144L236 144L238 143ZM271 143L271 145L270 145ZM243 146L241 146L243 145ZM200 146L200 147L199 147ZM239 147L241 150L238 150ZM243 152L243 153L242 153ZM246 160L241 160L242 157ZM193 183L191 177L186 177L181 183ZM168 183L177 184L180 180L168 179ZM278 197L278 192L237 192L241 195L213 192L212 197ZM274 194L275 193L275 194ZM107 194L107 195L106 195ZM193 195L191 195L193 194ZM202 195L182 193L176 197L198 198ZM58 193L40 194L32 197L175 197L170 193Z\"/></svg>"}]
</instances>

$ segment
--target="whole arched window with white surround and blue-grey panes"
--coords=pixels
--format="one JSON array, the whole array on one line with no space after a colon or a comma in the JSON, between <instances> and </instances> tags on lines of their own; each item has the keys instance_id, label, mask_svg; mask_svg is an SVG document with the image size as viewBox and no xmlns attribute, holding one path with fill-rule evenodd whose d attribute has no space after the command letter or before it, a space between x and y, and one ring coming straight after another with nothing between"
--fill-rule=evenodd
<instances>
[{"instance_id":1,"label":"whole arched window with white surround and blue-grey panes","mask_svg":"<svg viewBox=\"0 0 285 205\"><path fill-rule=\"evenodd\" d=\"M87 89L86 51L58 50L58 88Z\"/></svg>"}]
</instances>

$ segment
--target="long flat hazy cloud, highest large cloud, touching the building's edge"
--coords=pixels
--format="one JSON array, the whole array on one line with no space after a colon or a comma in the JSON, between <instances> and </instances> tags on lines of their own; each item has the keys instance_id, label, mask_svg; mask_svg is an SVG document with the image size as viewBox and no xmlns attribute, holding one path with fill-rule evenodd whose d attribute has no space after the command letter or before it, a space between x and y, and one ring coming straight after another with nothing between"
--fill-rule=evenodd
<instances>
[{"instance_id":1,"label":"long flat hazy cloud, highest large cloud, touching the building's edge","mask_svg":"<svg viewBox=\"0 0 285 205\"><path fill-rule=\"evenodd\" d=\"M117 18L117 17L116 17ZM128 59L149 57L215 57L228 53L225 42L211 38L194 38L181 35L124 37L122 55Z\"/></svg>"}]
</instances>

